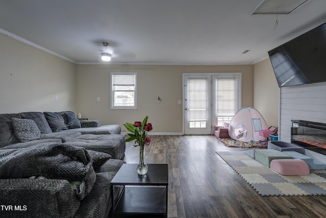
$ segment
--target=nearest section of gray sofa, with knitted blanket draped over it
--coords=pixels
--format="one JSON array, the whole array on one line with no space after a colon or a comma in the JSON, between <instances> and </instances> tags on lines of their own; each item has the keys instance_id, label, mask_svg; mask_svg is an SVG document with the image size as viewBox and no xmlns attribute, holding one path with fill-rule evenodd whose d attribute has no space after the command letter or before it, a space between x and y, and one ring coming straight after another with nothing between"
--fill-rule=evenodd
<instances>
[{"instance_id":1,"label":"nearest section of gray sofa, with knitted blanket draped over it","mask_svg":"<svg viewBox=\"0 0 326 218\"><path fill-rule=\"evenodd\" d=\"M106 218L123 160L63 143L0 153L0 217Z\"/></svg>"}]
</instances>

